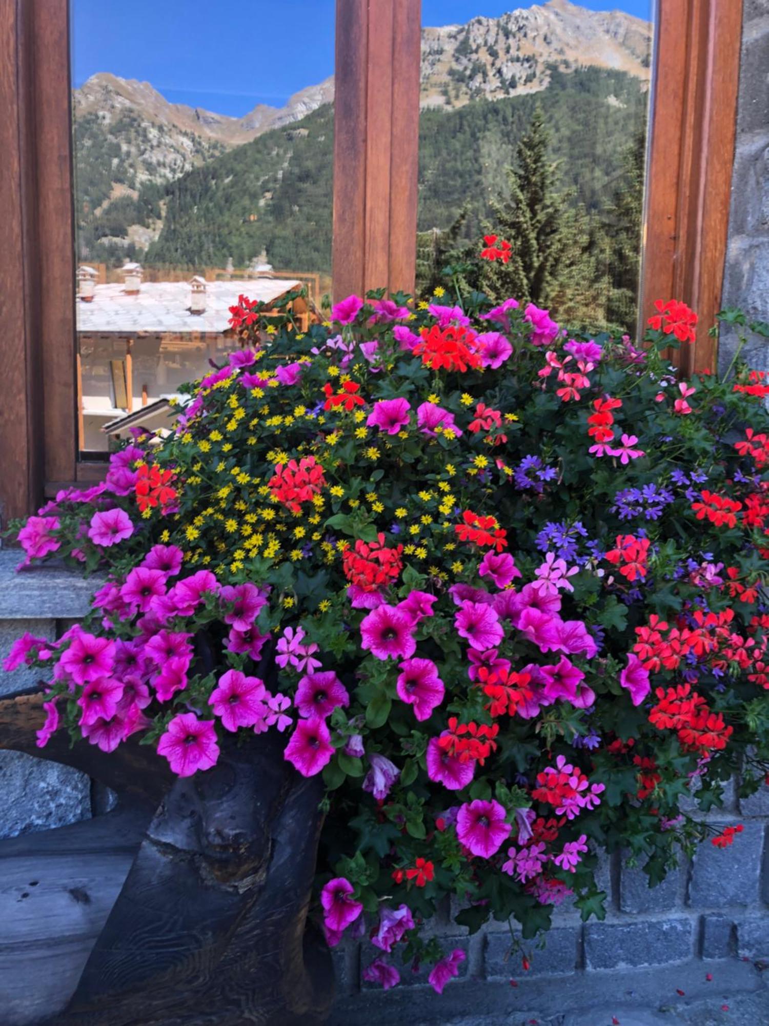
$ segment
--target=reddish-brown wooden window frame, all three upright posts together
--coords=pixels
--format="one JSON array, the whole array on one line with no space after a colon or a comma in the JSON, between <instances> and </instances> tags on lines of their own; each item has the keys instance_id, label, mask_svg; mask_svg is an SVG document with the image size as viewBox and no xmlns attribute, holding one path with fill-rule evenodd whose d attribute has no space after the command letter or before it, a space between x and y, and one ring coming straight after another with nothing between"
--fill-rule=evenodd
<instances>
[{"instance_id":1,"label":"reddish-brown wooden window frame, all three upright posts together","mask_svg":"<svg viewBox=\"0 0 769 1026\"><path fill-rule=\"evenodd\" d=\"M684 372L714 367L729 218L741 4L658 0L642 321L657 298L702 329ZM336 0L333 282L412 291L419 0ZM0 515L96 480L78 459L68 0L0 2ZM370 129L370 130L369 130Z\"/></svg>"}]
</instances>

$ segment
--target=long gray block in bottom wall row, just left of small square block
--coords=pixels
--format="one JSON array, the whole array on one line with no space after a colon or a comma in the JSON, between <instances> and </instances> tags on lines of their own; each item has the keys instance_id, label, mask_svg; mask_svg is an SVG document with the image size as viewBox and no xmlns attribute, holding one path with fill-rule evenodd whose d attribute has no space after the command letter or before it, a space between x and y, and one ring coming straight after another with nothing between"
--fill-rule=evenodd
<instances>
[{"instance_id":1,"label":"long gray block in bottom wall row, just left of small square block","mask_svg":"<svg viewBox=\"0 0 769 1026\"><path fill-rule=\"evenodd\" d=\"M589 970L629 965L667 965L691 958L694 922L660 919L647 922L589 922L584 958Z\"/></svg>"}]
</instances>

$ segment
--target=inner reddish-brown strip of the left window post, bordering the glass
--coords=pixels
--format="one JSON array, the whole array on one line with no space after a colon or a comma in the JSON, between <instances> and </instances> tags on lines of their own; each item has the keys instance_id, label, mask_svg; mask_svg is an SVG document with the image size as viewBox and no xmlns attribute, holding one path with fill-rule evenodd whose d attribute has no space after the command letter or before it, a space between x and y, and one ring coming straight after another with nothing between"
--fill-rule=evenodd
<instances>
[{"instance_id":1,"label":"inner reddish-brown strip of the left window post, bordering the glass","mask_svg":"<svg viewBox=\"0 0 769 1026\"><path fill-rule=\"evenodd\" d=\"M44 352L45 477L63 480L77 459L75 226L68 0L28 0L34 41L37 204L36 302Z\"/></svg>"}]
</instances>

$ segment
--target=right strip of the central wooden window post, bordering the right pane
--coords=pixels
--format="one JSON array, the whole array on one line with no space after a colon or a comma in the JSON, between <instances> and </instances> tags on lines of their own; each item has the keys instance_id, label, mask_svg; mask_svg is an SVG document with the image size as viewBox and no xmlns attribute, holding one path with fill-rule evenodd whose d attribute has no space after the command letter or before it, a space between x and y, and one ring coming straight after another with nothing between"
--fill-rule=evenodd
<instances>
[{"instance_id":1,"label":"right strip of the central wooden window post, bordering the right pane","mask_svg":"<svg viewBox=\"0 0 769 1026\"><path fill-rule=\"evenodd\" d=\"M419 168L421 0L396 0L393 22L393 131L390 163L392 291L414 291Z\"/></svg>"}]
</instances>

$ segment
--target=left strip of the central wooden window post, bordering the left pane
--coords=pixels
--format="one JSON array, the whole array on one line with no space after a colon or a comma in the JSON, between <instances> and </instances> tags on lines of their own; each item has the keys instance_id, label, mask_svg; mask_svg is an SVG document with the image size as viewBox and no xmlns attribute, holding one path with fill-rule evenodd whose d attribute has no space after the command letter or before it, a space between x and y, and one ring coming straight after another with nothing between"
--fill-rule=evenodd
<instances>
[{"instance_id":1,"label":"left strip of the central wooden window post, bordering the left pane","mask_svg":"<svg viewBox=\"0 0 769 1026\"><path fill-rule=\"evenodd\" d=\"M363 291L368 0L336 0L333 294Z\"/></svg>"}]
</instances>

